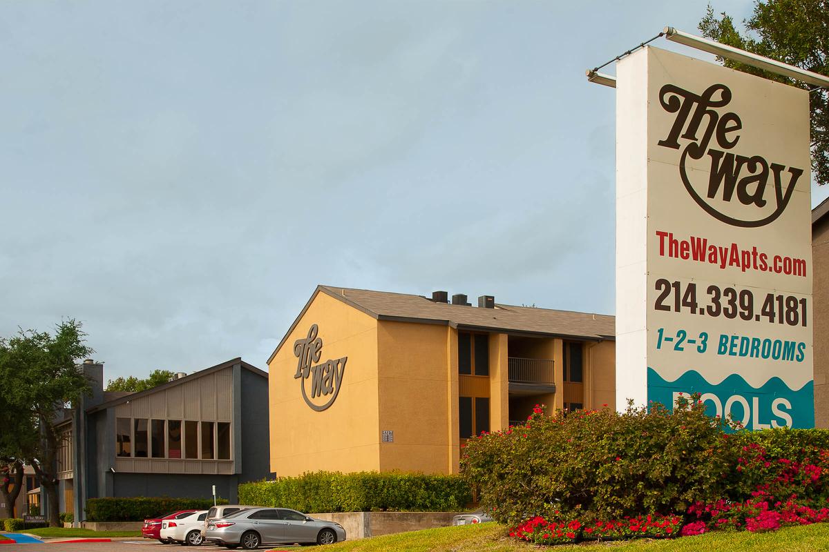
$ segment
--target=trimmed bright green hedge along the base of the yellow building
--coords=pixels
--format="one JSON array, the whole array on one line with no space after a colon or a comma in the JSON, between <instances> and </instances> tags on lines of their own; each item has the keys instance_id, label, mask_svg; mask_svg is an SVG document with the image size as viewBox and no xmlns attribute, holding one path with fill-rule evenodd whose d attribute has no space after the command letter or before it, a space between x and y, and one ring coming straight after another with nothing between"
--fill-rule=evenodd
<instances>
[{"instance_id":1,"label":"trimmed bright green hedge along the base of the yellow building","mask_svg":"<svg viewBox=\"0 0 829 552\"><path fill-rule=\"evenodd\" d=\"M458 511L472 500L456 475L399 472L313 472L243 483L239 502L315 513L328 511Z\"/></svg>"}]
</instances>

